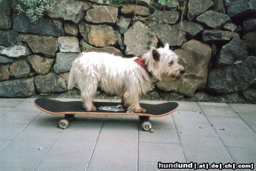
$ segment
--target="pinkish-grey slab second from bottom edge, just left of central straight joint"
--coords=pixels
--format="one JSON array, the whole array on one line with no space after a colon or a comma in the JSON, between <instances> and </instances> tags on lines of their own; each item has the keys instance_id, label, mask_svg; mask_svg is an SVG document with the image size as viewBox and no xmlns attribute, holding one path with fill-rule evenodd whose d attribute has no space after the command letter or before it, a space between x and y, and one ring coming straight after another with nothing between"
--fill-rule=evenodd
<instances>
[{"instance_id":1,"label":"pinkish-grey slab second from bottom edge, just left of central straight joint","mask_svg":"<svg viewBox=\"0 0 256 171\"><path fill-rule=\"evenodd\" d=\"M101 133L95 150L106 153L109 151L138 152L138 135Z\"/></svg>"}]
</instances>

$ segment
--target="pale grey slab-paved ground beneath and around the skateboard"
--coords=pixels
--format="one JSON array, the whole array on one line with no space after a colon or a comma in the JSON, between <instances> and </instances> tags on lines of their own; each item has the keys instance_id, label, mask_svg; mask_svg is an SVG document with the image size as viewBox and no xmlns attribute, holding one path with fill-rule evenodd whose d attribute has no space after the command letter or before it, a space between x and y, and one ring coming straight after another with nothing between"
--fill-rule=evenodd
<instances>
[{"instance_id":1,"label":"pale grey slab-paved ground beneath and around the skateboard","mask_svg":"<svg viewBox=\"0 0 256 171\"><path fill-rule=\"evenodd\" d=\"M256 105L179 102L171 116L151 118L151 134L133 116L77 116L61 130L57 122L63 116L40 112L33 101L0 99L0 170L158 170L158 161L256 163Z\"/></svg>"}]
</instances>

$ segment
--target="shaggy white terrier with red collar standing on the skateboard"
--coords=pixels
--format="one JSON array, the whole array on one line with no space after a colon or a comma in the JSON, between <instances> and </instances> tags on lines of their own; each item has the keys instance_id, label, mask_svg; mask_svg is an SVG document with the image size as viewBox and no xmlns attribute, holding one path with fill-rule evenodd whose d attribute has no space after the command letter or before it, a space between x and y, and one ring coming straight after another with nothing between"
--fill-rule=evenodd
<instances>
[{"instance_id":1,"label":"shaggy white terrier with red collar standing on the skateboard","mask_svg":"<svg viewBox=\"0 0 256 171\"><path fill-rule=\"evenodd\" d=\"M77 83L81 90L84 108L95 111L93 96L100 86L105 92L122 97L123 106L131 106L134 112L146 112L139 106L139 96L151 90L154 79L174 80L184 72L177 63L178 56L169 49L151 48L141 58L122 58L108 53L82 53L72 65L68 89Z\"/></svg>"}]
</instances>

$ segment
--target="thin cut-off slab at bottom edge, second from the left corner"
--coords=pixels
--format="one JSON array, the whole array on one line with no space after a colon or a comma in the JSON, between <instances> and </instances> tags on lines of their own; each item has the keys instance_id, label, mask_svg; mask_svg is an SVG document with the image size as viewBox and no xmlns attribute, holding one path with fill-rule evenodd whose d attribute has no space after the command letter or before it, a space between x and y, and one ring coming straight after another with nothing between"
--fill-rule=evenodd
<instances>
[{"instance_id":1,"label":"thin cut-off slab at bottom edge, second from the left corner","mask_svg":"<svg viewBox=\"0 0 256 171\"><path fill-rule=\"evenodd\" d=\"M80 161L46 161L43 160L35 171L81 171L86 170L88 163Z\"/></svg>"}]
</instances>

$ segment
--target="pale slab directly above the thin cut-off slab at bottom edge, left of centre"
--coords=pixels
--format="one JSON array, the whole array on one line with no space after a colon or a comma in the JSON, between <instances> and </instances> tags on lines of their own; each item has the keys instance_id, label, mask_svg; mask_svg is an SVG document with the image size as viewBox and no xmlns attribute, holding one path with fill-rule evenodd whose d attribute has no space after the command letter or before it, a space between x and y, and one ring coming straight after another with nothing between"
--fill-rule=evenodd
<instances>
[{"instance_id":1,"label":"pale slab directly above the thin cut-off slab at bottom edge, left of centre","mask_svg":"<svg viewBox=\"0 0 256 171\"><path fill-rule=\"evenodd\" d=\"M56 140L52 147L49 149L45 160L55 161L83 161L89 162L92 156L95 142L90 141L73 141Z\"/></svg>"}]
</instances>

